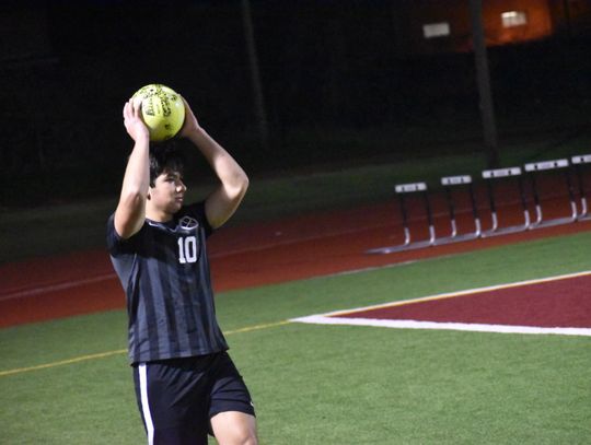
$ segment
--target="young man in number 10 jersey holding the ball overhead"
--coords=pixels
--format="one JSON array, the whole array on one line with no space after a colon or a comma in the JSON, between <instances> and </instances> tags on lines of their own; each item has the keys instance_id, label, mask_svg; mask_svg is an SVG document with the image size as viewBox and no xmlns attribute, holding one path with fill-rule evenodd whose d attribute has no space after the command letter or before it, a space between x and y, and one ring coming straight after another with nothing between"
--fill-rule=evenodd
<instances>
[{"instance_id":1,"label":"young man in number 10 jersey holding the ball overhead","mask_svg":"<svg viewBox=\"0 0 591 445\"><path fill-rule=\"evenodd\" d=\"M248 178L198 124L185 103L179 136L220 179L205 201L185 204L183 163L152 147L141 105L124 124L135 141L107 245L127 297L129 358L149 444L256 444L251 396L218 326L206 237L236 210Z\"/></svg>"}]
</instances>

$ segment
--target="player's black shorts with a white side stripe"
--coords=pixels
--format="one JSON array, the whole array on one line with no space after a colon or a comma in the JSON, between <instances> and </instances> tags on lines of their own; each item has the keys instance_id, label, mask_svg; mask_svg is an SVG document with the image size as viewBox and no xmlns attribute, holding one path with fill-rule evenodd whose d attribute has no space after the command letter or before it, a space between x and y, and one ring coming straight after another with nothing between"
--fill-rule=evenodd
<instances>
[{"instance_id":1,"label":"player's black shorts with a white side stripe","mask_svg":"<svg viewBox=\"0 0 591 445\"><path fill-rule=\"evenodd\" d=\"M255 415L248 389L227 352L140 363L136 397L150 444L207 444L220 412Z\"/></svg>"}]
</instances>

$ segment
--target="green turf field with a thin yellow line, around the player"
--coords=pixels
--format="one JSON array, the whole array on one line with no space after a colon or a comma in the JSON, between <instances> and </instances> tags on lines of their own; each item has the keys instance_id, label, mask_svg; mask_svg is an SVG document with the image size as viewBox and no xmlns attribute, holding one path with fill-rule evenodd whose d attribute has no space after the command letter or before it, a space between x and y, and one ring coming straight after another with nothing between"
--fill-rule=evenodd
<instances>
[{"instance_id":1,"label":"green turf field with a thin yellow line, around the player","mask_svg":"<svg viewBox=\"0 0 591 445\"><path fill-rule=\"evenodd\" d=\"M218 295L263 444L584 444L591 339L293 317L591 270L591 233ZM141 444L126 316L0 330L2 444Z\"/></svg>"}]
</instances>

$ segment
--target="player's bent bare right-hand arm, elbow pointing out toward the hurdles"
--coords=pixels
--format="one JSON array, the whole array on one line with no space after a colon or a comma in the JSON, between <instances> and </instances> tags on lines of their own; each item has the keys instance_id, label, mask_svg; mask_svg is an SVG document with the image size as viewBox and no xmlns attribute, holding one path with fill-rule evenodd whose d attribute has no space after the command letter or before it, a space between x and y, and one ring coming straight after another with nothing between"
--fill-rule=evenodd
<instances>
[{"instance_id":1,"label":"player's bent bare right-hand arm, elbow pointing out toward the hurdles","mask_svg":"<svg viewBox=\"0 0 591 445\"><path fill-rule=\"evenodd\" d=\"M236 210L248 188L248 176L237 162L199 125L185 101L185 124L181 136L200 150L220 179L219 187L206 199L206 215L213 229L222 225Z\"/></svg>"}]
</instances>

